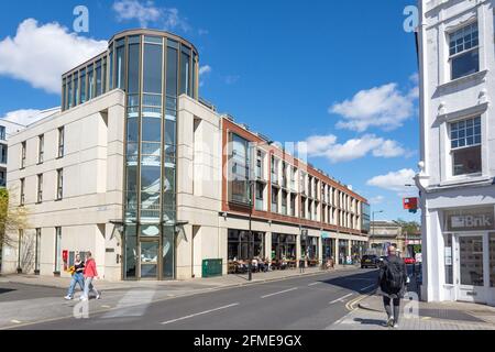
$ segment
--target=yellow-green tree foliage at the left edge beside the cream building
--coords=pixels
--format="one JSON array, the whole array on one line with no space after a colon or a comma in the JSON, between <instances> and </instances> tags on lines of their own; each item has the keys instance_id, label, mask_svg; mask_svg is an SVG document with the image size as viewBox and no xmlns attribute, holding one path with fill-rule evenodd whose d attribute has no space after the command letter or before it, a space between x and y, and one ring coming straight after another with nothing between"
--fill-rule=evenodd
<instances>
[{"instance_id":1,"label":"yellow-green tree foliage at the left edge beside the cream building","mask_svg":"<svg viewBox=\"0 0 495 352\"><path fill-rule=\"evenodd\" d=\"M16 246L9 233L28 229L28 209L9 204L9 191L0 188L0 246Z\"/></svg>"}]
</instances>

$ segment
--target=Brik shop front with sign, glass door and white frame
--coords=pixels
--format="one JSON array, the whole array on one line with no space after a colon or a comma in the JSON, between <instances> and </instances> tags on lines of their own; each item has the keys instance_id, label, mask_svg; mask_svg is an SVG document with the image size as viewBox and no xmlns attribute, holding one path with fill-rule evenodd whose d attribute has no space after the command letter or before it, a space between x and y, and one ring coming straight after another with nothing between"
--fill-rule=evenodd
<instances>
[{"instance_id":1,"label":"Brik shop front with sign, glass door and white frame","mask_svg":"<svg viewBox=\"0 0 495 352\"><path fill-rule=\"evenodd\" d=\"M494 207L443 212L446 296L495 304Z\"/></svg>"}]
</instances>

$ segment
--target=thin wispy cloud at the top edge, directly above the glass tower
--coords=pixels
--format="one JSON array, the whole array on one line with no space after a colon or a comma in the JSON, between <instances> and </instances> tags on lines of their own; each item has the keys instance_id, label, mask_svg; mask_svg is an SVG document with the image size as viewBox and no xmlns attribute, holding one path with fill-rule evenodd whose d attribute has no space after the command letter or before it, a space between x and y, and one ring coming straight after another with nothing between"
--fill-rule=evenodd
<instances>
[{"instance_id":1,"label":"thin wispy cloud at the top edge, directly above the glass tower","mask_svg":"<svg viewBox=\"0 0 495 352\"><path fill-rule=\"evenodd\" d=\"M136 20L142 28L153 23L166 31L180 29L188 32L190 30L187 20L179 15L176 8L158 8L152 0L117 0L112 9L120 22Z\"/></svg>"}]
</instances>

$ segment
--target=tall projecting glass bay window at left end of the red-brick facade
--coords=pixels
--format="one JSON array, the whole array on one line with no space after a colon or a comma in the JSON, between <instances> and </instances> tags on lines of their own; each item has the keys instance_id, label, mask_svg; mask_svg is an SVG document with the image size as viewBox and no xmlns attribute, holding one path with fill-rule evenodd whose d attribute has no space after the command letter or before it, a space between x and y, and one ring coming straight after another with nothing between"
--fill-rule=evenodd
<instances>
[{"instance_id":1,"label":"tall projecting glass bay window at left end of the red-brick facade","mask_svg":"<svg viewBox=\"0 0 495 352\"><path fill-rule=\"evenodd\" d=\"M249 142L243 138L231 133L230 143L230 175L229 194L230 201L249 205L250 204L250 158Z\"/></svg>"}]
</instances>

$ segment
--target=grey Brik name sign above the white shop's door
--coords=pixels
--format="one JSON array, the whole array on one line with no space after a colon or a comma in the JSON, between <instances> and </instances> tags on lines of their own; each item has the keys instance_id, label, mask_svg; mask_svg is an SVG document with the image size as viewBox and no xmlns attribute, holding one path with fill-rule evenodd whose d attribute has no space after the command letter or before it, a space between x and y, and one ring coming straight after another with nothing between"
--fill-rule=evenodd
<instances>
[{"instance_id":1,"label":"grey Brik name sign above the white shop's door","mask_svg":"<svg viewBox=\"0 0 495 352\"><path fill-rule=\"evenodd\" d=\"M493 207L446 211L448 231L495 230Z\"/></svg>"}]
</instances>

